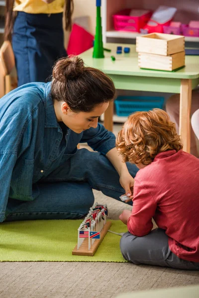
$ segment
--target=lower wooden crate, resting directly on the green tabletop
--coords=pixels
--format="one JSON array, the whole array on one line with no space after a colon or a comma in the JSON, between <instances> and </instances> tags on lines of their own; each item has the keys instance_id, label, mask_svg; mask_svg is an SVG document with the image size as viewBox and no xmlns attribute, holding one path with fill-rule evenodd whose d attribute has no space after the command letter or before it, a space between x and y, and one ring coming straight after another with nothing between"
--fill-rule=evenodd
<instances>
[{"instance_id":1,"label":"lower wooden crate, resting directly on the green tabletop","mask_svg":"<svg viewBox=\"0 0 199 298\"><path fill-rule=\"evenodd\" d=\"M185 65L185 51L169 56L138 53L138 66L144 69L173 71Z\"/></svg>"}]
</instances>

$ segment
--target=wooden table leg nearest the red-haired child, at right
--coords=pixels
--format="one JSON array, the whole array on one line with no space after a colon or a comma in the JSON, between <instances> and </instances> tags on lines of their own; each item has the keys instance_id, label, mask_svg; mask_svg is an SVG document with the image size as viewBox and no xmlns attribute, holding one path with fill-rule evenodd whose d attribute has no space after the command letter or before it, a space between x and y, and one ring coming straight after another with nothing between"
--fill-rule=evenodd
<instances>
[{"instance_id":1,"label":"wooden table leg nearest the red-haired child, at right","mask_svg":"<svg viewBox=\"0 0 199 298\"><path fill-rule=\"evenodd\" d=\"M183 141L183 150L190 153L191 141L191 104L192 80L181 79L180 89L180 136Z\"/></svg>"}]
</instances>

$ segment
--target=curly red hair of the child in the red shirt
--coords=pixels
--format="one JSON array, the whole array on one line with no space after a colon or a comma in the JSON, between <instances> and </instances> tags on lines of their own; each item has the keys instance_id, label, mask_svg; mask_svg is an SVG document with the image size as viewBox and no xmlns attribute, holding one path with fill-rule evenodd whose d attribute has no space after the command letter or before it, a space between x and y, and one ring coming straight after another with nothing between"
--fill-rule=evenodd
<instances>
[{"instance_id":1,"label":"curly red hair of the child in the red shirt","mask_svg":"<svg viewBox=\"0 0 199 298\"><path fill-rule=\"evenodd\" d=\"M183 149L176 127L161 109L135 112L124 123L116 138L116 148L124 161L147 165L167 150Z\"/></svg>"}]
</instances>

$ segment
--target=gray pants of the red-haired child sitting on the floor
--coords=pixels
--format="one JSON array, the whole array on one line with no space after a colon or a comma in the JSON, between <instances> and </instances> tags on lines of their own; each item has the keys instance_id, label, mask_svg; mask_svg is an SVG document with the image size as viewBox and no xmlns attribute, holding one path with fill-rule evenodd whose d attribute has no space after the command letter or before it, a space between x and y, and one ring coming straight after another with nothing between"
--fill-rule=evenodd
<instances>
[{"instance_id":1,"label":"gray pants of the red-haired child sitting on the floor","mask_svg":"<svg viewBox=\"0 0 199 298\"><path fill-rule=\"evenodd\" d=\"M168 236L161 228L156 228L143 237L125 233L120 240L120 249L125 260L137 265L199 270L199 263L180 259L170 250Z\"/></svg>"}]
</instances>

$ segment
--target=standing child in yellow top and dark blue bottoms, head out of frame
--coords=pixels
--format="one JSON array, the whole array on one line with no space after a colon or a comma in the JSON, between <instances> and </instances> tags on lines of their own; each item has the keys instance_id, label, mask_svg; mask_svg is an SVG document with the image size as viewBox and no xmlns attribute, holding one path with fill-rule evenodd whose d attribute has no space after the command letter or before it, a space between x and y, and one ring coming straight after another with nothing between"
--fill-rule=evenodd
<instances>
[{"instance_id":1,"label":"standing child in yellow top and dark blue bottoms, head out of frame","mask_svg":"<svg viewBox=\"0 0 199 298\"><path fill-rule=\"evenodd\" d=\"M18 86L46 82L55 61L67 56L62 19L64 11L70 29L73 8L73 0L6 0L4 40L12 40Z\"/></svg>"}]
</instances>

